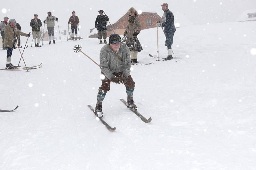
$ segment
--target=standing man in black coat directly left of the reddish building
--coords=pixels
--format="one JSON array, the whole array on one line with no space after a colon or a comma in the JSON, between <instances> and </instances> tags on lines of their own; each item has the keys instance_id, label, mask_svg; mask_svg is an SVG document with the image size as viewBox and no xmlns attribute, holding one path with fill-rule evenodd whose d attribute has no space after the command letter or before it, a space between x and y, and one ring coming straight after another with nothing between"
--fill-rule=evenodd
<instances>
[{"instance_id":1,"label":"standing man in black coat directly left of the reddish building","mask_svg":"<svg viewBox=\"0 0 256 170\"><path fill-rule=\"evenodd\" d=\"M97 16L95 20L95 28L98 30L98 39L100 39L100 44L102 44L101 38L104 38L104 43L106 44L107 38L107 22L109 21L107 15L103 15L103 11L99 11L100 15Z\"/></svg>"}]
</instances>

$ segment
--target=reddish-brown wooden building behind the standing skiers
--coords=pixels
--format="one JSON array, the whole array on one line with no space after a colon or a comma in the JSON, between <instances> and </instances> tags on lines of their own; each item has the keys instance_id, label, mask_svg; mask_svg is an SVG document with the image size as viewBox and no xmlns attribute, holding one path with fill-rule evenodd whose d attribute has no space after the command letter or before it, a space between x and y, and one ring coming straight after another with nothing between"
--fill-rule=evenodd
<instances>
[{"instance_id":1,"label":"reddish-brown wooden building behind the standing skiers","mask_svg":"<svg viewBox=\"0 0 256 170\"><path fill-rule=\"evenodd\" d=\"M156 13L156 12L142 12L139 16L140 18L140 24L141 24L141 30L148 29L148 28L155 28L156 22L161 21L162 18ZM118 19L114 24L111 26L107 26L107 36L113 34L113 30L116 34L123 35L124 31L126 29L126 26L128 24L129 19L129 12L124 14L120 19ZM111 22L111 20L110 20ZM113 28L113 30L112 30ZM98 38L98 33L96 28L90 29L90 35L88 35L89 38Z\"/></svg>"}]
</instances>

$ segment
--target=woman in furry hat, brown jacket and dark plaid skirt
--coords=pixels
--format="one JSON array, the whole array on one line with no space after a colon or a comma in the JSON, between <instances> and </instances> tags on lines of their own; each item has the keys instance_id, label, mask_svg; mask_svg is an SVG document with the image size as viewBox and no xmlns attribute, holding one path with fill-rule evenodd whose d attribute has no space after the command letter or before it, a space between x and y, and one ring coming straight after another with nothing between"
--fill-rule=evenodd
<instances>
[{"instance_id":1,"label":"woman in furry hat, brown jacket and dark plaid skirt","mask_svg":"<svg viewBox=\"0 0 256 170\"><path fill-rule=\"evenodd\" d=\"M126 30L124 32L124 37L127 37L127 46L130 49L130 55L131 55L131 63L137 63L137 57L138 52L140 52L142 49L139 39L137 38L137 35L140 34L140 19L138 17L138 12L135 10L135 8L130 8L128 11L129 14L129 20L128 25L126 27Z\"/></svg>"}]
</instances>

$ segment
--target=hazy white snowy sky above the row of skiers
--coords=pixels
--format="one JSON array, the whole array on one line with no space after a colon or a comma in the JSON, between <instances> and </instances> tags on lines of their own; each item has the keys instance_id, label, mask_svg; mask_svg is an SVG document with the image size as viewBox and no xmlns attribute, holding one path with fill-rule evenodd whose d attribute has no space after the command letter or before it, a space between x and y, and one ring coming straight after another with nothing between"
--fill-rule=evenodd
<instances>
[{"instance_id":1,"label":"hazy white snowy sky above the row of skiers","mask_svg":"<svg viewBox=\"0 0 256 170\"><path fill-rule=\"evenodd\" d=\"M77 4L77 3L78 4ZM129 2L129 3L128 3ZM46 18L47 12L51 11L52 15L59 18L59 26L67 29L68 18L73 10L80 19L80 34L86 36L89 29L94 27L94 22L99 10L104 10L113 24L117 19L123 16L130 7L135 7L142 12L158 12L162 17L163 11L160 4L168 3L169 9L175 14L184 14L193 24L206 24L212 22L232 22L247 9L253 9L256 6L255 0L97 0L97 1L67 1L67 0L44 0L20 3L18 0L1 2L1 16L8 16L10 19L15 18L20 23L22 30L28 32L30 20L34 13L42 21ZM178 14L177 14L178 15ZM112 22L111 22L112 21ZM56 23L57 24L57 23ZM61 29L60 28L60 29ZM25 30L24 30L25 29Z\"/></svg>"}]
</instances>

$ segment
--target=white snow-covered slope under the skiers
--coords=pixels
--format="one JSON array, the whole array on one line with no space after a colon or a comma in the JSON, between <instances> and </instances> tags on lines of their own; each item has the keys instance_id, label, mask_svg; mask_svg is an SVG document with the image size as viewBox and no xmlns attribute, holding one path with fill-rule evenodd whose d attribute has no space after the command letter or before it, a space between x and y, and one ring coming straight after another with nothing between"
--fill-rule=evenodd
<instances>
[{"instance_id":1,"label":"white snow-covered slope under the skiers","mask_svg":"<svg viewBox=\"0 0 256 170\"><path fill-rule=\"evenodd\" d=\"M43 67L0 71L0 109L19 105L0 113L0 169L255 169L255 24L178 28L177 62L150 58L157 29L143 30L138 60L153 64L135 65L131 75L138 111L152 122L129 111L119 101L124 85L111 83L103 112L115 132L87 107L95 107L100 68L73 51L81 44L99 63L97 39L26 48L27 66ZM164 41L160 29L161 57ZM4 67L6 51L0 55ZM12 63L19 59L14 50Z\"/></svg>"}]
</instances>

